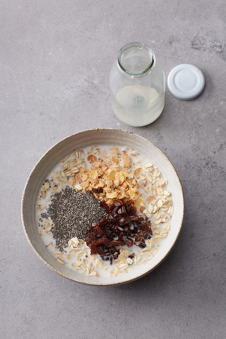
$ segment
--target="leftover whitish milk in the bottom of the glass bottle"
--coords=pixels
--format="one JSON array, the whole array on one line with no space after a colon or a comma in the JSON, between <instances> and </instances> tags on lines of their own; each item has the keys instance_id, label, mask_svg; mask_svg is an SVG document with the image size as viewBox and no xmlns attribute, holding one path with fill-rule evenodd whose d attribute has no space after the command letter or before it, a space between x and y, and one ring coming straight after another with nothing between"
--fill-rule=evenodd
<instances>
[{"instance_id":1,"label":"leftover whitish milk in the bottom of the glass bottle","mask_svg":"<svg viewBox=\"0 0 226 339\"><path fill-rule=\"evenodd\" d=\"M165 94L143 85L123 87L112 96L112 108L116 116L131 126L144 126L153 122L162 113Z\"/></svg>"}]
</instances>

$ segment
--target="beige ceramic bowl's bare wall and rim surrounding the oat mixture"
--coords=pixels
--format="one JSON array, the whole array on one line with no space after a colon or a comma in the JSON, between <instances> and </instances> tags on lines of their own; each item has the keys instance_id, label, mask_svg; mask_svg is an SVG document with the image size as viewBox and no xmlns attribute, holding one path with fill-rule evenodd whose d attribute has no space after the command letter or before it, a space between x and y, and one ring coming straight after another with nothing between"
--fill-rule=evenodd
<instances>
[{"instance_id":1,"label":"beige ceramic bowl's bare wall and rim surrounding the oat mixture","mask_svg":"<svg viewBox=\"0 0 226 339\"><path fill-rule=\"evenodd\" d=\"M52 168L64 157L73 152L73 149L81 149L90 145L118 145L130 146L147 162L156 165L163 177L168 179L168 187L173 199L173 215L170 232L162 242L158 252L145 265L135 265L134 270L124 275L115 277L88 277L79 271L71 271L52 256L42 242L37 231L35 219L35 205L42 182L51 172ZM177 173L165 156L165 154L152 142L134 133L121 131L114 128L95 128L78 132L56 143L37 162L29 178L27 179L21 204L21 216L25 235L37 256L52 270L62 277L76 282L92 285L117 285L136 280L150 273L170 253L181 230L184 215L184 199L180 180Z\"/></svg>"}]
</instances>

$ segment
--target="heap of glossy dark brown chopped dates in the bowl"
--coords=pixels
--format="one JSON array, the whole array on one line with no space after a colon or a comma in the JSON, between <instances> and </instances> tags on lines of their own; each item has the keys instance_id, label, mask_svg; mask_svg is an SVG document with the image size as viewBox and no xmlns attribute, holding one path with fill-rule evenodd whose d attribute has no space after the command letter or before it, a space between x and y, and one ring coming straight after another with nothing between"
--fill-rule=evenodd
<instances>
[{"instance_id":1,"label":"heap of glossy dark brown chopped dates in the bowl","mask_svg":"<svg viewBox=\"0 0 226 339\"><path fill-rule=\"evenodd\" d=\"M132 200L114 199L110 206L101 201L100 205L108 214L101 221L90 225L87 245L91 254L99 254L102 260L110 260L112 264L113 259L120 254L120 249L115 246L131 247L135 244L146 247L145 240L152 235L151 222L137 215ZM129 256L130 259L133 257L134 253Z\"/></svg>"}]
</instances>

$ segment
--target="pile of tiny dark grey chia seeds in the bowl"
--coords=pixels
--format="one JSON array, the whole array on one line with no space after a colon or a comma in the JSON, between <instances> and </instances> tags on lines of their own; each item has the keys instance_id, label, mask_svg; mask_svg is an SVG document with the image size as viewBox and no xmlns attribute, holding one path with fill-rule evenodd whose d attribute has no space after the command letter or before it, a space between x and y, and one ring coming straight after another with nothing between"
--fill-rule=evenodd
<instances>
[{"instance_id":1,"label":"pile of tiny dark grey chia seeds in the bowl","mask_svg":"<svg viewBox=\"0 0 226 339\"><path fill-rule=\"evenodd\" d=\"M63 251L73 237L87 241L91 222L101 221L106 214L106 210L100 206L100 200L91 191L76 192L67 186L52 196L48 210L41 217L51 218L53 238Z\"/></svg>"}]
</instances>

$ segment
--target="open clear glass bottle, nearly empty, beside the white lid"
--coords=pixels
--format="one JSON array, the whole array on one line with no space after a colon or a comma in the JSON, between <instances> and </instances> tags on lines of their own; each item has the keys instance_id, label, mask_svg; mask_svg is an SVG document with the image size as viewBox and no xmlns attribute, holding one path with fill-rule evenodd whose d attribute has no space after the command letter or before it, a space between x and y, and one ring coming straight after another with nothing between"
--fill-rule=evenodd
<instances>
[{"instance_id":1,"label":"open clear glass bottle, nearly empty, beside the white lid","mask_svg":"<svg viewBox=\"0 0 226 339\"><path fill-rule=\"evenodd\" d=\"M120 49L109 75L116 116L131 126L156 120L165 104L165 75L152 50L139 42Z\"/></svg>"}]
</instances>

